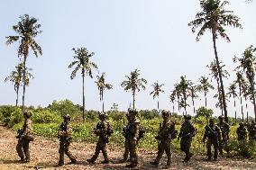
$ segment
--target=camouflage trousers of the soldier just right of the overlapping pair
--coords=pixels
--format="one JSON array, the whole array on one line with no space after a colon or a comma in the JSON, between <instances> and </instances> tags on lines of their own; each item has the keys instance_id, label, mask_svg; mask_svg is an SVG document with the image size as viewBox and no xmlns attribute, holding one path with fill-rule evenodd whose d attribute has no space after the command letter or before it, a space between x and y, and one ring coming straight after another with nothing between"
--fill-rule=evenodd
<instances>
[{"instance_id":1,"label":"camouflage trousers of the soldier just right of the overlapping pair","mask_svg":"<svg viewBox=\"0 0 256 170\"><path fill-rule=\"evenodd\" d=\"M170 141L169 140L160 140L159 146L158 146L158 156L156 157L155 162L157 164L160 163L160 159L163 155L163 153L166 153L167 156L167 165L170 166L171 163L171 148L170 148Z\"/></svg>"}]
</instances>

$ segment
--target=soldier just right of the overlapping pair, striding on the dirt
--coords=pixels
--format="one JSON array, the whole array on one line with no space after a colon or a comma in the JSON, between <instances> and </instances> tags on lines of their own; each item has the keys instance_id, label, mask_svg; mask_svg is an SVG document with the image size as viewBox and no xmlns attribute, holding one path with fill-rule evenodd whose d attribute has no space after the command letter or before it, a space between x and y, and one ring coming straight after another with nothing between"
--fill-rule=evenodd
<instances>
[{"instance_id":1,"label":"soldier just right of the overlapping pair, striding on the dirt","mask_svg":"<svg viewBox=\"0 0 256 170\"><path fill-rule=\"evenodd\" d=\"M169 121L170 112L163 110L161 114L163 118L163 123L162 125L160 124L160 131L158 133L158 136L156 136L156 139L159 140L158 156L153 162L151 162L151 165L159 166L160 158L165 152L167 155L167 167L169 167L171 163L170 143L172 139L176 138L177 131L175 130L175 123Z\"/></svg>"}]
</instances>

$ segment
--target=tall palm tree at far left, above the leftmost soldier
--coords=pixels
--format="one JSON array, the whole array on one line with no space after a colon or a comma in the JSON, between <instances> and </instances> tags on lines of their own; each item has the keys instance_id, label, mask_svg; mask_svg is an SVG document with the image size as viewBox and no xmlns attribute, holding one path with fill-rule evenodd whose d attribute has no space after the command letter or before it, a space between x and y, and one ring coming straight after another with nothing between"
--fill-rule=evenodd
<instances>
[{"instance_id":1,"label":"tall palm tree at far left, above the leftmost soldier","mask_svg":"<svg viewBox=\"0 0 256 170\"><path fill-rule=\"evenodd\" d=\"M25 71L26 71L26 61L29 56L29 51L32 49L33 54L37 58L41 55L41 47L40 45L34 40L35 37L41 33L39 30L41 28L41 24L37 23L37 19L30 18L28 14L24 14L20 16L21 21L18 22L16 25L13 26L13 30L17 35L8 36L6 37L6 44L10 45L15 41L20 43L18 48L18 57L23 57L23 84L25 84ZM23 108L24 110L24 101L25 101L25 87L23 85Z\"/></svg>"}]
</instances>

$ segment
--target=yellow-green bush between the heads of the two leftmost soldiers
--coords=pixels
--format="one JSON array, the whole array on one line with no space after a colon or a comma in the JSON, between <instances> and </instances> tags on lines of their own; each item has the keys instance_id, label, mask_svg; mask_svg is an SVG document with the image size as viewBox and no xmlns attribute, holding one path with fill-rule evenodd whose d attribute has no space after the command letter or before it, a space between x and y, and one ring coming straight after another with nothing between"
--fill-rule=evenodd
<instances>
[{"instance_id":1,"label":"yellow-green bush between the heads of the two leftmost soldiers","mask_svg":"<svg viewBox=\"0 0 256 170\"><path fill-rule=\"evenodd\" d=\"M61 116L57 112L50 112L49 110L42 110L41 112L33 112L33 123L53 123L60 122Z\"/></svg>"}]
</instances>

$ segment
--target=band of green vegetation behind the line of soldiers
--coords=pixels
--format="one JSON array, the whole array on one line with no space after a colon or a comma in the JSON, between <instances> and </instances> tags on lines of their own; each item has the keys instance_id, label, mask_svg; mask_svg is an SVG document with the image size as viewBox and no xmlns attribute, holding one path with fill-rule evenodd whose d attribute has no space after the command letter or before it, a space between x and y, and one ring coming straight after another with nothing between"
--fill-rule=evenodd
<instances>
[{"instance_id":1,"label":"band of green vegetation behind the line of soldiers","mask_svg":"<svg viewBox=\"0 0 256 170\"><path fill-rule=\"evenodd\" d=\"M67 104L65 106L65 104ZM60 107L62 106L62 107ZM69 106L69 107L68 107ZM75 105L69 100L64 100L60 102L54 101L46 108L34 109L31 107L30 111L32 114L32 128L35 135L49 138L57 138L57 130L59 128L59 123L62 121L61 112L68 112L72 117L73 134L72 137L75 141L82 142L96 142L96 136L92 133L93 128L96 126L98 121L96 111L86 112L86 122L80 118L82 106ZM204 128L206 125L206 115L211 114L210 109L201 107L197 110L197 117L193 118L193 122L197 128L197 135L193 140L192 150L197 154L206 154L205 145L201 142L204 133ZM123 147L123 118L124 112L118 112L116 110L109 111L108 121L111 123L114 129L114 133L110 138L110 147ZM157 140L155 136L159 130L159 124L161 119L159 118L159 113L157 110L146 110L140 111L138 115L141 120L142 126L146 130L144 138L141 140L139 148L157 148ZM251 118L252 119L252 118ZM230 133L230 142L228 147L231 149L233 156L251 157L256 158L256 143L254 142L238 142L236 140L235 130L238 124L234 123L234 119L229 119L230 123L233 123ZM0 121L5 123L6 126L12 130L18 130L23 126L23 115L22 110L15 106L0 106ZM180 125L183 122L183 116L173 113L171 116L171 121L176 123L176 129L180 129ZM238 120L241 121L241 120ZM125 120L125 122L127 122ZM217 122L217 118L215 118ZM179 151L179 141L178 139L173 140L173 148L175 151Z\"/></svg>"}]
</instances>

